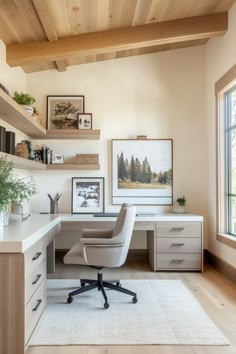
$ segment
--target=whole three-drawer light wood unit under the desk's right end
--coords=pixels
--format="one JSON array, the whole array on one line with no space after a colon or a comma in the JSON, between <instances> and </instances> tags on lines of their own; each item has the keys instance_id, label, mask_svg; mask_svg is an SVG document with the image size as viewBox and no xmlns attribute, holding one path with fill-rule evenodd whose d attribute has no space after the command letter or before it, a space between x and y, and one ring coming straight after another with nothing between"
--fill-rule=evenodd
<instances>
[{"instance_id":1,"label":"whole three-drawer light wood unit under the desk's right end","mask_svg":"<svg viewBox=\"0 0 236 354\"><path fill-rule=\"evenodd\" d=\"M202 222L156 222L154 270L202 270Z\"/></svg>"}]
</instances>

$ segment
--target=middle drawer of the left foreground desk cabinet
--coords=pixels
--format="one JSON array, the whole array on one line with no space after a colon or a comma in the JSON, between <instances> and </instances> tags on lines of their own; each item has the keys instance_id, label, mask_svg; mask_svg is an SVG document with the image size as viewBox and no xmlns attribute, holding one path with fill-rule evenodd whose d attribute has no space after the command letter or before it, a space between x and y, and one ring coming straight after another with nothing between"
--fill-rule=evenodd
<instances>
[{"instance_id":1,"label":"middle drawer of the left foreground desk cabinet","mask_svg":"<svg viewBox=\"0 0 236 354\"><path fill-rule=\"evenodd\" d=\"M25 281L25 304L38 289L39 285L46 279L46 259L42 259L39 266L29 275Z\"/></svg>"}]
</instances>

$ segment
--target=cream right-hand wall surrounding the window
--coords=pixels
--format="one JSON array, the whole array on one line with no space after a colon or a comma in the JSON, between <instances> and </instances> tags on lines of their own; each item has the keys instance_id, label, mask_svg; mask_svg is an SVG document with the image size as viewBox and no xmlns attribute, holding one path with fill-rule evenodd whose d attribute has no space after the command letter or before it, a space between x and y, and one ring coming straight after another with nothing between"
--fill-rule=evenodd
<instances>
[{"instance_id":1,"label":"cream right-hand wall surrounding the window","mask_svg":"<svg viewBox=\"0 0 236 354\"><path fill-rule=\"evenodd\" d=\"M229 11L229 28L224 37L207 44L207 135L208 135L208 247L209 250L236 267L235 249L216 240L216 151L214 84L236 63L236 4Z\"/></svg>"}]
</instances>

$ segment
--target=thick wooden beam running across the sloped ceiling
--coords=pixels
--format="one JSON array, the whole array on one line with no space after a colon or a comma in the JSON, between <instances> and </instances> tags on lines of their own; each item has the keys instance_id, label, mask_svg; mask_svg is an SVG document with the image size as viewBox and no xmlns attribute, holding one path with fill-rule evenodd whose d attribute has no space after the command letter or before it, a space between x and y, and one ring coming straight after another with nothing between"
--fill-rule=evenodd
<instances>
[{"instance_id":1,"label":"thick wooden beam running across the sloped ceiling","mask_svg":"<svg viewBox=\"0 0 236 354\"><path fill-rule=\"evenodd\" d=\"M223 35L228 28L226 12L173 21L126 27L7 46L7 63L21 66L38 61L57 61L79 54L99 54Z\"/></svg>"}]
</instances>

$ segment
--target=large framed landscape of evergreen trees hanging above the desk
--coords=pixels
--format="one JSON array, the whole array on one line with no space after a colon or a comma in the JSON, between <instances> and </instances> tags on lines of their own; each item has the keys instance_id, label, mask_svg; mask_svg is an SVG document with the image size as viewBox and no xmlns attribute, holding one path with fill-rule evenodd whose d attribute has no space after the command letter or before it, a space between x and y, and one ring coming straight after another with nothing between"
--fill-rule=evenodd
<instances>
[{"instance_id":1,"label":"large framed landscape of evergreen trees hanging above the desk","mask_svg":"<svg viewBox=\"0 0 236 354\"><path fill-rule=\"evenodd\" d=\"M172 139L112 140L112 204L173 204Z\"/></svg>"}]
</instances>

